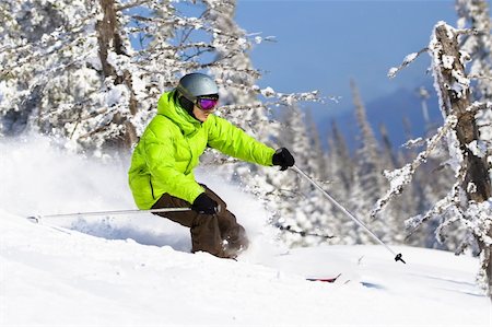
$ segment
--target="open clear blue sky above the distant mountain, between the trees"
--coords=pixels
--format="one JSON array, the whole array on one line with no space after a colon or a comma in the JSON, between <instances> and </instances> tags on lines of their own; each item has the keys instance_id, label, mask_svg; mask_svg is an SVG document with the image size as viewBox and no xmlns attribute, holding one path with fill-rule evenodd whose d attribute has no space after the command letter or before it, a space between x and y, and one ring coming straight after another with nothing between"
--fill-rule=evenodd
<instances>
[{"instance_id":1,"label":"open clear blue sky above the distant mountain, between the trees","mask_svg":"<svg viewBox=\"0 0 492 327\"><path fill-rule=\"evenodd\" d=\"M438 21L456 25L454 0L440 1L253 1L238 0L237 24L248 33L276 36L251 51L267 71L258 81L279 92L319 90L341 102L306 104L315 117L350 109L350 79L364 102L430 81L429 55L389 80L389 68L429 44Z\"/></svg>"}]
</instances>

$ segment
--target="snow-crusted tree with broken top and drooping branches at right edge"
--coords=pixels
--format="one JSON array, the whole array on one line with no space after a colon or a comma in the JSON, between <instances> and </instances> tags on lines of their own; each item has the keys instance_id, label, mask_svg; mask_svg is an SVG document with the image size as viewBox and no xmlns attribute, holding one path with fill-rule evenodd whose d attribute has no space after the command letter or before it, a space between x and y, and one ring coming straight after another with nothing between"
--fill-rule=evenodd
<instances>
[{"instance_id":1,"label":"snow-crusted tree with broken top and drooping branches at right edge","mask_svg":"<svg viewBox=\"0 0 492 327\"><path fill-rule=\"evenodd\" d=\"M492 192L487 151L480 145L477 114L492 110L492 103L471 102L471 75L465 70L470 56L460 49L458 42L459 36L467 33L471 31L456 30L444 22L434 27L427 51L432 57L434 85L440 97L444 125L427 140L426 149L413 162L387 173L390 189L378 200L373 215L410 183L415 170L438 147L441 140L445 139L449 153L446 164L453 170L455 182L449 185L448 194L444 198L435 202L426 213L409 219L407 225L412 231L422 222L438 219L436 233L441 241L445 241L449 226L461 227L465 234L456 252L461 253L469 246L478 247L481 276L491 290Z\"/></svg>"}]
</instances>

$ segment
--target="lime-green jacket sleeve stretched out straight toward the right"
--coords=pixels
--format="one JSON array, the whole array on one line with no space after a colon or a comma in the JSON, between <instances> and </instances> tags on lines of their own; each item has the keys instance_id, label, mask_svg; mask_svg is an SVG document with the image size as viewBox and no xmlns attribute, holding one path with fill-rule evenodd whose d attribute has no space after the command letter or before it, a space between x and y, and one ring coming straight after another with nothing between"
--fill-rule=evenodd
<instances>
[{"instance_id":1,"label":"lime-green jacket sleeve stretched out straight toward the right","mask_svg":"<svg viewBox=\"0 0 492 327\"><path fill-rule=\"evenodd\" d=\"M255 140L244 130L223 118L210 115L207 122L209 147L244 161L263 166L272 165L271 160L276 152L274 149Z\"/></svg>"}]
</instances>

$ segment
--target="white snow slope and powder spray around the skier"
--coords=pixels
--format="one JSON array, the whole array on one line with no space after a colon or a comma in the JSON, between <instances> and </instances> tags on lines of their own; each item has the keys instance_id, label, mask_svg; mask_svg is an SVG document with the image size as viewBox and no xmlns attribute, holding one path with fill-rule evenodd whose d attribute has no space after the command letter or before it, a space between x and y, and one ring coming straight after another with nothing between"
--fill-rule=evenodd
<instances>
[{"instance_id":1,"label":"white snow slope and powder spray around the skier","mask_svg":"<svg viewBox=\"0 0 492 327\"><path fill-rule=\"evenodd\" d=\"M32 214L133 209L121 164L0 141L0 326L491 326L478 260L382 246L288 250L250 196L198 176L229 203L253 246L238 261L189 254L187 229L151 214ZM332 277L336 283L305 277Z\"/></svg>"}]
</instances>

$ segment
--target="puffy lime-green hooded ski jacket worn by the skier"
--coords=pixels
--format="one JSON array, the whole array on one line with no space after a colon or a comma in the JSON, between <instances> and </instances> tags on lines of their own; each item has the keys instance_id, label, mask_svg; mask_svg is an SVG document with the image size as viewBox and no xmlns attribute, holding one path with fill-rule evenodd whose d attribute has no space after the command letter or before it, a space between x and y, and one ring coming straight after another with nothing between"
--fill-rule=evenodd
<instances>
[{"instance_id":1,"label":"puffy lime-green hooded ski jacket worn by the skier","mask_svg":"<svg viewBox=\"0 0 492 327\"><path fill-rule=\"evenodd\" d=\"M194 168L207 147L227 155L272 165L274 150L215 115L204 122L174 101L174 91L159 100L157 115L145 128L131 159L128 179L139 209L150 209L163 194L190 203L204 191Z\"/></svg>"}]
</instances>

